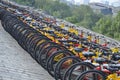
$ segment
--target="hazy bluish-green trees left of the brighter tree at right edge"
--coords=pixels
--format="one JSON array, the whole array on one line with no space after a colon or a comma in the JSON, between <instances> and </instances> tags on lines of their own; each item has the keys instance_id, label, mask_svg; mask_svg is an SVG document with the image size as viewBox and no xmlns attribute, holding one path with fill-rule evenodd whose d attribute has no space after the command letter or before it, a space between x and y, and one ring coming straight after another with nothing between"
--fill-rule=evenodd
<instances>
[{"instance_id":1,"label":"hazy bluish-green trees left of the brighter tree at right edge","mask_svg":"<svg viewBox=\"0 0 120 80\"><path fill-rule=\"evenodd\" d=\"M93 12L87 5L67 5L60 0L13 0L18 3L24 2L28 5L34 2L34 7L43 9L48 14L61 19L65 19L74 24L85 26L92 29L95 23L100 19L100 15Z\"/></svg>"}]
</instances>

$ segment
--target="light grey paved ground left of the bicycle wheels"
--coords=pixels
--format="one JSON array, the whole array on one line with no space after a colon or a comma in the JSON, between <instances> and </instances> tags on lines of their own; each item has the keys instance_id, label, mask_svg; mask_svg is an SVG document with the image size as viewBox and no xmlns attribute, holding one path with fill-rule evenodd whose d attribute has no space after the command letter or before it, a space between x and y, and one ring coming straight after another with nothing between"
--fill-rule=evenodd
<instances>
[{"instance_id":1,"label":"light grey paved ground left of the bicycle wheels","mask_svg":"<svg viewBox=\"0 0 120 80\"><path fill-rule=\"evenodd\" d=\"M0 80L54 80L0 24Z\"/></svg>"}]
</instances>

